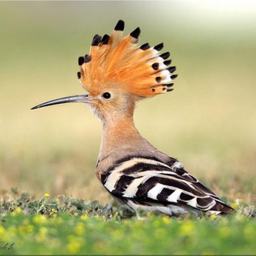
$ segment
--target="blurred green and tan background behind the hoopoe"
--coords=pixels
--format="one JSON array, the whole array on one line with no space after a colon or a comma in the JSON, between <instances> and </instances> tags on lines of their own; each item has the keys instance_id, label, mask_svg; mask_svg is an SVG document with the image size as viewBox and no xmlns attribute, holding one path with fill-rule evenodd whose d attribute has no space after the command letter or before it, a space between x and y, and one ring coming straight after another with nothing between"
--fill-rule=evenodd
<instances>
[{"instance_id":1,"label":"blurred green and tan background behind the hoopoe","mask_svg":"<svg viewBox=\"0 0 256 256\"><path fill-rule=\"evenodd\" d=\"M144 137L220 196L255 201L256 5L253 1L1 2L0 189L110 198L94 174L101 125L83 104L31 111L83 93L79 56L93 35L140 26L140 43L164 42L179 77L144 100Z\"/></svg>"}]
</instances>

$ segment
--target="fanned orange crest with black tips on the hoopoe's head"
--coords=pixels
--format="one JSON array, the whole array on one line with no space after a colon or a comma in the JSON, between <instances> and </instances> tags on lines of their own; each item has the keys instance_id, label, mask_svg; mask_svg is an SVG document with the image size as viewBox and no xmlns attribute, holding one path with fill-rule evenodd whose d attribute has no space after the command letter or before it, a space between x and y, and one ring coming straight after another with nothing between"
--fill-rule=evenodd
<instances>
[{"instance_id":1,"label":"fanned orange crest with black tips on the hoopoe's head","mask_svg":"<svg viewBox=\"0 0 256 256\"><path fill-rule=\"evenodd\" d=\"M118 21L111 36L92 39L90 55L79 57L78 79L92 95L118 87L138 97L152 97L172 91L172 80L178 75L169 67L170 53L160 54L164 44L137 46L140 29L123 37L124 22Z\"/></svg>"}]
</instances>

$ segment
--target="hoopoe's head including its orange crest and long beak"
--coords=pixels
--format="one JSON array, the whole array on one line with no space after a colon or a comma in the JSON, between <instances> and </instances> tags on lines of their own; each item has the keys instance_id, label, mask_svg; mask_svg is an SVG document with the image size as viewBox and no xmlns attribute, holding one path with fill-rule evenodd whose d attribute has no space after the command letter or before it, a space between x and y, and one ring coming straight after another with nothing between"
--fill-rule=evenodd
<instances>
[{"instance_id":1,"label":"hoopoe's head including its orange crest and long beak","mask_svg":"<svg viewBox=\"0 0 256 256\"><path fill-rule=\"evenodd\" d=\"M140 29L123 38L124 22L118 21L111 36L95 35L89 55L78 58L79 82L88 92L50 100L32 109L61 103L89 104L102 119L132 114L137 100L172 91L170 53L160 53L163 43L137 46Z\"/></svg>"}]
</instances>

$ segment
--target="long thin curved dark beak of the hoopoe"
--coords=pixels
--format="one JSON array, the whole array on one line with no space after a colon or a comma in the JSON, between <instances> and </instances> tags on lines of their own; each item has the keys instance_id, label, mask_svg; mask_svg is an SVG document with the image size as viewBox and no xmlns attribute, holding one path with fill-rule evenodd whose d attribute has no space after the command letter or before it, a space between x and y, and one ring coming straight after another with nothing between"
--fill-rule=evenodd
<instances>
[{"instance_id":1,"label":"long thin curved dark beak of the hoopoe","mask_svg":"<svg viewBox=\"0 0 256 256\"><path fill-rule=\"evenodd\" d=\"M39 109L39 107L45 107L45 106L51 106L56 104L62 104L62 103L71 103L71 102L82 102L82 103L90 103L92 102L92 98L89 97L89 95L75 95L75 96L68 96L63 97L59 99L53 99L49 102L44 102L42 104L33 106L31 109Z\"/></svg>"}]
</instances>

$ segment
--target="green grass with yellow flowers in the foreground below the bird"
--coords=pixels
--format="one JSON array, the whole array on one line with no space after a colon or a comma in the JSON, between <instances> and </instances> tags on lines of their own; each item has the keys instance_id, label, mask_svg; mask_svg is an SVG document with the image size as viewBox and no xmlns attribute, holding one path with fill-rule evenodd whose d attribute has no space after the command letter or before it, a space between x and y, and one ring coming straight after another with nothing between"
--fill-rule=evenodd
<instances>
[{"instance_id":1,"label":"green grass with yellow flowers in the foreground below the bird","mask_svg":"<svg viewBox=\"0 0 256 256\"><path fill-rule=\"evenodd\" d=\"M0 254L254 254L255 209L232 206L237 213L226 217L137 220L118 205L47 193L32 200L12 189L0 204L0 246L10 250Z\"/></svg>"}]
</instances>

